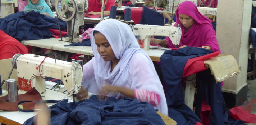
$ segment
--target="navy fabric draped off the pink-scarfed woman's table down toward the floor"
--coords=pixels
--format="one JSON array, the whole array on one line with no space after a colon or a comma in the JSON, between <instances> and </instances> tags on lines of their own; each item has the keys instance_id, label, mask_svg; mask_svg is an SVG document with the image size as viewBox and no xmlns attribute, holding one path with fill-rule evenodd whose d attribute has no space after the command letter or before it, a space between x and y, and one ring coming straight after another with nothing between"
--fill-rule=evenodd
<instances>
[{"instance_id":1,"label":"navy fabric draped off the pink-scarfed woman's table down toward the floor","mask_svg":"<svg viewBox=\"0 0 256 125\"><path fill-rule=\"evenodd\" d=\"M210 53L212 53L211 50L204 48L184 47L178 50L166 50L160 58L169 117L175 120L177 125L195 125L201 122L184 104L182 76L188 59Z\"/></svg>"}]
</instances>

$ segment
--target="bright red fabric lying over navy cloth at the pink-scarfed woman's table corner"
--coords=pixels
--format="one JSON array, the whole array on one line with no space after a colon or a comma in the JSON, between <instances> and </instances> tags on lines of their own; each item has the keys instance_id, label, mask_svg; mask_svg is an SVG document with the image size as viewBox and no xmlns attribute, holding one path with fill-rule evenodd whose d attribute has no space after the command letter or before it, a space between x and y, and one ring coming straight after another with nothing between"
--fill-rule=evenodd
<instances>
[{"instance_id":1,"label":"bright red fabric lying over navy cloth at the pink-scarfed woman's table corner","mask_svg":"<svg viewBox=\"0 0 256 125\"><path fill-rule=\"evenodd\" d=\"M207 54L204 56L188 59L186 65L184 67L184 70L183 70L183 77L206 70L204 60L212 58L212 57L216 57L218 55L219 55L219 51L211 53L211 54Z\"/></svg>"}]
</instances>

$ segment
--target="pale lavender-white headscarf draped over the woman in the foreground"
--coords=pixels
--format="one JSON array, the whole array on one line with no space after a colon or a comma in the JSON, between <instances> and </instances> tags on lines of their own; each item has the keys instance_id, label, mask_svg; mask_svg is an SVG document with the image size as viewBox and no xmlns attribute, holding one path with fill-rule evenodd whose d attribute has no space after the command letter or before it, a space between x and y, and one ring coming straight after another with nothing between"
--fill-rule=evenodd
<instances>
[{"instance_id":1,"label":"pale lavender-white headscarf draped over the woman in the foreground","mask_svg":"<svg viewBox=\"0 0 256 125\"><path fill-rule=\"evenodd\" d=\"M115 57L117 59L120 59L112 72L110 72L111 61L104 61L97 51L97 46L95 44L95 39L93 36L94 31L99 31L102 35L105 36L115 54ZM152 91L156 94L159 94L159 96L161 97L161 102L156 108L160 112L168 116L163 86L161 85L159 77L156 74L154 65L147 53L144 50L140 49L140 46L136 38L134 37L131 28L127 24L115 19L106 19L101 21L91 32L91 45L94 55L93 70L96 86L93 85L94 87L90 88L94 90L88 89L89 92L95 91L95 89L101 91L105 85L123 86L129 87L130 89L142 89ZM143 84L143 82L139 78L140 76L137 76L140 81L136 81L138 79L132 79L132 77L129 77L128 75L129 67L131 67L131 65L134 65L130 60L134 56L134 54L138 53L145 59L148 59L145 60L145 63L148 63L147 65L149 65L146 68L150 69L150 72L148 72L148 74L151 74L151 76L156 76L152 83L150 82L150 86ZM127 83L128 79L132 79L132 83ZM91 82L92 80L94 80L94 78L88 81ZM83 82L86 82L86 80L84 79ZM122 94L112 94L108 96L115 96L118 98L122 97Z\"/></svg>"}]
</instances>

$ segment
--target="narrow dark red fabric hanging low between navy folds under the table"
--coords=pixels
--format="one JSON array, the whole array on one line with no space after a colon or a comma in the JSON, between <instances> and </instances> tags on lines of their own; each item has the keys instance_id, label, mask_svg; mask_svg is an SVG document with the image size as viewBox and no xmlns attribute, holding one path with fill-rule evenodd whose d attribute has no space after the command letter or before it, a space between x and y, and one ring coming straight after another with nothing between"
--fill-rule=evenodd
<instances>
[{"instance_id":1,"label":"narrow dark red fabric hanging low between navy folds under the table","mask_svg":"<svg viewBox=\"0 0 256 125\"><path fill-rule=\"evenodd\" d=\"M206 101L204 100L202 102L202 109L200 112L201 121L203 125L210 125L210 115L211 115L211 107L210 105L207 105Z\"/></svg>"}]
</instances>

